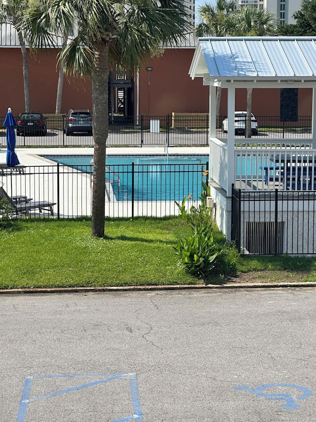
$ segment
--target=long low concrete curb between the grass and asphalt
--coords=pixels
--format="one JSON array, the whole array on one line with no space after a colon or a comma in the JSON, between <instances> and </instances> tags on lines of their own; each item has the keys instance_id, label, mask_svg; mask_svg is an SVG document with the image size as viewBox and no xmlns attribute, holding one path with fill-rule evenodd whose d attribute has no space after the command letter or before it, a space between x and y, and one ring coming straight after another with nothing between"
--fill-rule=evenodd
<instances>
[{"instance_id":1,"label":"long low concrete curb between the grass and asphalt","mask_svg":"<svg viewBox=\"0 0 316 422\"><path fill-rule=\"evenodd\" d=\"M230 284L175 284L175 285L144 285L144 286L109 286L109 287L48 287L48 288L15 288L0 289L0 294L29 293L82 293L82 292L130 292L155 290L208 290L208 289L238 289L238 288L283 288L283 287L316 287L316 282L301 283L230 283Z\"/></svg>"}]
</instances>

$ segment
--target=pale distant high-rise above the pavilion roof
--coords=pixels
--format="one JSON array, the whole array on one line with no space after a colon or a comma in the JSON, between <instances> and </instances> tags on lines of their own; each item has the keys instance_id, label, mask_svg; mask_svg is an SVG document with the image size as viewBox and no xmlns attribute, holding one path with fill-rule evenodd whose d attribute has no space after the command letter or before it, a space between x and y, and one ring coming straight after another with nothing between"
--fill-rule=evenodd
<instances>
[{"instance_id":1,"label":"pale distant high-rise above the pavilion roof","mask_svg":"<svg viewBox=\"0 0 316 422\"><path fill-rule=\"evenodd\" d=\"M295 23L292 15L306 0L236 0L237 6L253 6L272 11L278 24Z\"/></svg>"}]
</instances>

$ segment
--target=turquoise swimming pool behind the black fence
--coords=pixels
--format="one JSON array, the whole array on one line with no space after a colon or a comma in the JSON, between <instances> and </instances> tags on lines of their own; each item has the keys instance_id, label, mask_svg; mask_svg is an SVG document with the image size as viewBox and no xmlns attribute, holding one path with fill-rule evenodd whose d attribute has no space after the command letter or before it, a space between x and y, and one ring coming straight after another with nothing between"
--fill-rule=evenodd
<instances>
[{"instance_id":1,"label":"turquoise swimming pool behind the black fence","mask_svg":"<svg viewBox=\"0 0 316 422\"><path fill-rule=\"evenodd\" d=\"M93 173L92 155L43 155L84 173ZM118 201L180 201L201 191L208 155L108 155L107 189Z\"/></svg>"}]
</instances>

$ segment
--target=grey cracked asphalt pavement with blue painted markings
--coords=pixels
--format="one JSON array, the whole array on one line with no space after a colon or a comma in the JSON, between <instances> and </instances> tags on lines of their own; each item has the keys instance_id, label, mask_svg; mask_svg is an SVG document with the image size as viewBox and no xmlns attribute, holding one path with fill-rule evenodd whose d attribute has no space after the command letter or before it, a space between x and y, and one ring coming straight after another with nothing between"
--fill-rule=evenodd
<instances>
[{"instance_id":1,"label":"grey cracked asphalt pavement with blue painted markings","mask_svg":"<svg viewBox=\"0 0 316 422\"><path fill-rule=\"evenodd\" d=\"M0 297L0 420L316 420L316 290Z\"/></svg>"}]
</instances>

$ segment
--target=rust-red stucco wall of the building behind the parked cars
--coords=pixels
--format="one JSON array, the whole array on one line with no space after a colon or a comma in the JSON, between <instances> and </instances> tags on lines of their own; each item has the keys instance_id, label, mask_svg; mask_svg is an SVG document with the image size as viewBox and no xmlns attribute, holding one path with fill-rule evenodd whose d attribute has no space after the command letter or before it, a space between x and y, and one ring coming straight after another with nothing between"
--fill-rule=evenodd
<instances>
[{"instance_id":1,"label":"rust-red stucco wall of the building behind the parked cars","mask_svg":"<svg viewBox=\"0 0 316 422\"><path fill-rule=\"evenodd\" d=\"M139 115L160 116L172 112L208 111L208 87L202 79L192 80L188 74L194 48L166 49L160 57L148 60L139 75ZM39 56L29 56L31 108L42 113L54 113L58 72L57 49L49 49ZM25 111L22 56L20 48L0 48L0 116L11 107L15 115ZM147 66L152 71L146 70ZM136 80L136 79L135 79ZM134 113L137 90L135 86ZM92 109L91 83L88 79L65 78L62 113L69 108ZM236 109L246 109L246 90L236 93ZM278 116L280 91L254 89L252 112L257 116ZM227 115L227 90L223 90L221 111ZM299 90L299 115L312 114L312 90Z\"/></svg>"}]
</instances>

